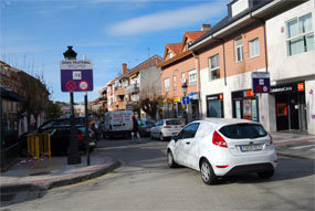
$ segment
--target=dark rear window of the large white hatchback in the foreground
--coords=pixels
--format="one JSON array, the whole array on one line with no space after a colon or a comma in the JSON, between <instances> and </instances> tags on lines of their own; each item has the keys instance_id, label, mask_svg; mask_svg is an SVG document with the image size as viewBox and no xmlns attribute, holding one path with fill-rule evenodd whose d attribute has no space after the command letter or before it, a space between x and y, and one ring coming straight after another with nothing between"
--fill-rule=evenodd
<instances>
[{"instance_id":1,"label":"dark rear window of the large white hatchback in the foreground","mask_svg":"<svg viewBox=\"0 0 315 211\"><path fill-rule=\"evenodd\" d=\"M264 137L267 135L263 126L258 125L258 124L228 125L219 129L219 131L223 136L228 138L234 138L234 139L259 138L259 137Z\"/></svg>"}]
</instances>

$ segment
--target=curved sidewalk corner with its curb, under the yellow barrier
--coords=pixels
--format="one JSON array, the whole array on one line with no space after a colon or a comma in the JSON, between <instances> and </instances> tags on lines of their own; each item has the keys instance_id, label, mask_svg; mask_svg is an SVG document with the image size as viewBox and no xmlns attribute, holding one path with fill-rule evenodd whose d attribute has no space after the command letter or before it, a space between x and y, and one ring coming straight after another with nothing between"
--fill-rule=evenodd
<instances>
[{"instance_id":1,"label":"curved sidewalk corner with its curb, under the yellow barrier","mask_svg":"<svg viewBox=\"0 0 315 211\"><path fill-rule=\"evenodd\" d=\"M48 190L93 179L120 166L119 161L109 157L93 154L90 166L86 166L85 156L82 156L80 165L67 165L67 157L53 157L52 163L54 167L48 168L33 168L36 161L15 163L8 171L1 172L0 192ZM45 165L49 165L48 158L41 161L41 166Z\"/></svg>"}]
</instances>

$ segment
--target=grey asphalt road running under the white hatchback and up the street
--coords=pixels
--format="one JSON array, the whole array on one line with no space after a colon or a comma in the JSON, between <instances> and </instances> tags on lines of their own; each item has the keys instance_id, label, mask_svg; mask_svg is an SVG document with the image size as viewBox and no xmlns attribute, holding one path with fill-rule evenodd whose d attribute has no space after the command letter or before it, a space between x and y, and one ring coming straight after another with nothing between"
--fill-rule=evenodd
<instances>
[{"instance_id":1,"label":"grey asphalt road running under the white hatchback and up the street","mask_svg":"<svg viewBox=\"0 0 315 211\"><path fill-rule=\"evenodd\" d=\"M253 173L206 186L195 170L167 167L167 143L143 141L101 141L95 152L122 160L120 168L46 192L17 193L1 210L315 210L314 160L280 157L270 180Z\"/></svg>"}]
</instances>

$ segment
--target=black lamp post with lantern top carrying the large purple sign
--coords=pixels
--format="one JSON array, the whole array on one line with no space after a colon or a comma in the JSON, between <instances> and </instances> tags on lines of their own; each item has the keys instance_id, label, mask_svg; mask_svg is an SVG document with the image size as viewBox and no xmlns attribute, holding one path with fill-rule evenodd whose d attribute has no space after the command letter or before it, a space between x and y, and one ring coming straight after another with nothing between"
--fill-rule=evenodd
<instances>
[{"instance_id":1,"label":"black lamp post with lantern top carrying the large purple sign","mask_svg":"<svg viewBox=\"0 0 315 211\"><path fill-rule=\"evenodd\" d=\"M66 52L63 53L65 60L76 60L75 51L72 46L67 46ZM78 154L78 146L76 140L76 129L74 119L74 107L73 107L73 92L70 92L70 106L71 106L71 117L70 117L70 143L67 151L67 165L81 163L81 156Z\"/></svg>"}]
</instances>

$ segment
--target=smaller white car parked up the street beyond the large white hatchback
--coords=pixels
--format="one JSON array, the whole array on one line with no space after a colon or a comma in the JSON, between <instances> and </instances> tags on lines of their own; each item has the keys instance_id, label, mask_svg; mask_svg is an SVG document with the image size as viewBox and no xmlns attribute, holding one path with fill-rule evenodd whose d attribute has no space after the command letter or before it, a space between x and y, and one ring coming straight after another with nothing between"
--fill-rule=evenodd
<instances>
[{"instance_id":1,"label":"smaller white car parked up the street beyond the large white hatchback","mask_svg":"<svg viewBox=\"0 0 315 211\"><path fill-rule=\"evenodd\" d=\"M185 125L176 118L161 119L150 129L150 138L166 140L176 136Z\"/></svg>"}]
</instances>

